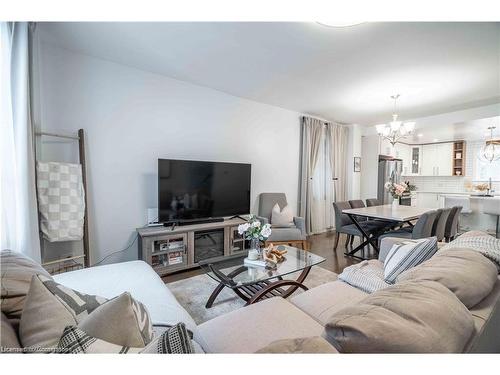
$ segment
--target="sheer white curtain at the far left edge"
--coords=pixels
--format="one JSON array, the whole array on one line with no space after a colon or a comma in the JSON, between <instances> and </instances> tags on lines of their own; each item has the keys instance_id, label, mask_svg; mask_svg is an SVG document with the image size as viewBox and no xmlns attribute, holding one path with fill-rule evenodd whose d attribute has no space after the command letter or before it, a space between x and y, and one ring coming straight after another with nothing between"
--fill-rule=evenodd
<instances>
[{"instance_id":1,"label":"sheer white curtain at the far left edge","mask_svg":"<svg viewBox=\"0 0 500 375\"><path fill-rule=\"evenodd\" d=\"M0 247L40 262L27 22L0 22Z\"/></svg>"}]
</instances>

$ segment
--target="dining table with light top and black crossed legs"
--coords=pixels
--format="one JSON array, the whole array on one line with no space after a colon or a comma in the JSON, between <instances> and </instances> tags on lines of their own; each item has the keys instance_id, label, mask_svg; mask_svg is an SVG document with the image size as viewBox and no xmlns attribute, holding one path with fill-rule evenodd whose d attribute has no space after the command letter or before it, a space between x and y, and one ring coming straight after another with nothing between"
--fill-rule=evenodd
<instances>
[{"instance_id":1,"label":"dining table with light top and black crossed legs","mask_svg":"<svg viewBox=\"0 0 500 375\"><path fill-rule=\"evenodd\" d=\"M394 204L349 208L342 210L342 213L349 216L353 224L363 235L361 243L351 251L345 253L345 255L361 260L366 260L366 258L356 255L356 253L363 250L367 245L371 245L378 254L380 250L378 246L378 236L383 234L384 231L404 224L413 227L413 220L417 220L425 212L432 210L432 208ZM360 220L360 218L366 218L368 220L382 220L386 222L387 225L381 225L377 228L377 230L370 232L367 231L366 227L361 225L363 219Z\"/></svg>"}]
</instances>

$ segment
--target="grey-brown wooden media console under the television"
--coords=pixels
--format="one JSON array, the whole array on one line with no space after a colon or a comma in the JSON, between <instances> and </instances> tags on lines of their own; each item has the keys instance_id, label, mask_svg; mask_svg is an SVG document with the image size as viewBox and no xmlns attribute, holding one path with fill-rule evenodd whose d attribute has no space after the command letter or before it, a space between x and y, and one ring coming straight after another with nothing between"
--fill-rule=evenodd
<instances>
[{"instance_id":1,"label":"grey-brown wooden media console under the television","mask_svg":"<svg viewBox=\"0 0 500 375\"><path fill-rule=\"evenodd\" d=\"M246 254L250 245L238 234L240 218L182 226L137 228L139 259L160 275L198 267L206 259Z\"/></svg>"}]
</instances>

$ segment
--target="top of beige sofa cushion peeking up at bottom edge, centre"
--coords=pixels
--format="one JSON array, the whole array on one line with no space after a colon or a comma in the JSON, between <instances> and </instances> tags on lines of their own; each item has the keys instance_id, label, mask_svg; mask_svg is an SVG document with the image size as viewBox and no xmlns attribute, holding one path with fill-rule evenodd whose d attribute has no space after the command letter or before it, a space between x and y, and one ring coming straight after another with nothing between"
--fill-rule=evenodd
<instances>
[{"instance_id":1,"label":"top of beige sofa cushion peeking up at bottom edge, centre","mask_svg":"<svg viewBox=\"0 0 500 375\"><path fill-rule=\"evenodd\" d=\"M264 354L312 354L329 353L334 354L338 351L328 343L324 338L306 337L300 339L285 339L270 343L265 348L257 350L256 353Z\"/></svg>"}]
</instances>

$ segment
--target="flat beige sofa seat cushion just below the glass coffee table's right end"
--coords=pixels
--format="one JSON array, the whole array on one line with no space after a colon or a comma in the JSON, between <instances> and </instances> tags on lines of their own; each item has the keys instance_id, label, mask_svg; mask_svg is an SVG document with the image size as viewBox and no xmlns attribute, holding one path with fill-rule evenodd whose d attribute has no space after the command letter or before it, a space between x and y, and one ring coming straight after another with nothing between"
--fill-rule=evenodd
<instances>
[{"instance_id":1,"label":"flat beige sofa seat cushion just below the glass coffee table's right end","mask_svg":"<svg viewBox=\"0 0 500 375\"><path fill-rule=\"evenodd\" d=\"M367 295L341 280L336 280L300 293L290 299L290 302L324 326L334 313L361 301Z\"/></svg>"}]
</instances>

